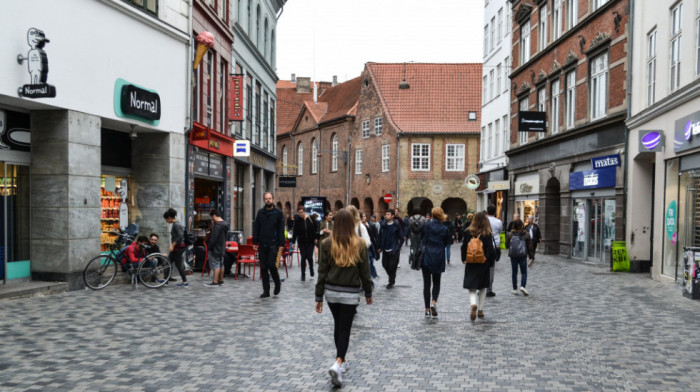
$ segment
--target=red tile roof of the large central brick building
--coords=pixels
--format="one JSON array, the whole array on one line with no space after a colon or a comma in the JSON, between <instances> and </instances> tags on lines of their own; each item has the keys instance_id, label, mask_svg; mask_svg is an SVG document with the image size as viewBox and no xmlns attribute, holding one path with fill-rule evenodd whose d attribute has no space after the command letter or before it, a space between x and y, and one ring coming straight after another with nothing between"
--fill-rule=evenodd
<instances>
[{"instance_id":1,"label":"red tile roof of the large central brick building","mask_svg":"<svg viewBox=\"0 0 700 392\"><path fill-rule=\"evenodd\" d=\"M481 64L367 63L389 121L402 133L479 133ZM476 121L469 121L476 112Z\"/></svg>"}]
</instances>

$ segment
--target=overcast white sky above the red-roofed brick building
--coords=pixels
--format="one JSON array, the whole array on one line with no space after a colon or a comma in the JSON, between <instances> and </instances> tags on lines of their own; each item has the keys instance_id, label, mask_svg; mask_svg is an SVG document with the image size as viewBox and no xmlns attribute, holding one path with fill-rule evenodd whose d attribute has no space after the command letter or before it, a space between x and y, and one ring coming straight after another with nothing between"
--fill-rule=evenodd
<instances>
[{"instance_id":1,"label":"overcast white sky above the red-roofed brick building","mask_svg":"<svg viewBox=\"0 0 700 392\"><path fill-rule=\"evenodd\" d=\"M288 0L277 75L344 82L369 61L480 63L483 24L483 0Z\"/></svg>"}]
</instances>

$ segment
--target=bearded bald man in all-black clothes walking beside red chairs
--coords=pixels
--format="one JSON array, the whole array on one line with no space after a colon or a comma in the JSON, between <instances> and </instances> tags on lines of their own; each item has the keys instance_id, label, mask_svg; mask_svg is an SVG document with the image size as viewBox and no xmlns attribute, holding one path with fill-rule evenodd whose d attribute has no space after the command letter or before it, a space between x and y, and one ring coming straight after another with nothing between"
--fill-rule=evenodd
<instances>
[{"instance_id":1,"label":"bearded bald man in all-black clothes walking beside red chairs","mask_svg":"<svg viewBox=\"0 0 700 392\"><path fill-rule=\"evenodd\" d=\"M272 192L265 192L265 207L258 210L253 222L253 243L258 245L260 259L260 276L263 293L260 298L270 296L270 275L275 282L275 292L280 293L282 283L277 272L277 254L284 250L284 214L275 207Z\"/></svg>"}]
</instances>

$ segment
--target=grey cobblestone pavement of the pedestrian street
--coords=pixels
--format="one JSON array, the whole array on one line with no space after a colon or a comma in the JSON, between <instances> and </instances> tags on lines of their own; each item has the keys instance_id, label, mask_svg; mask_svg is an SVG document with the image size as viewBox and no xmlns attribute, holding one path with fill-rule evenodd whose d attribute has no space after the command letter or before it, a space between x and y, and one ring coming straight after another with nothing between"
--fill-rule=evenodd
<instances>
[{"instance_id":1,"label":"grey cobblestone pavement of the pedestrian street","mask_svg":"<svg viewBox=\"0 0 700 392\"><path fill-rule=\"evenodd\" d=\"M432 320L404 250L397 286L380 279L374 305L358 307L343 390L700 390L700 301L677 286L539 256L531 296L515 296L504 257L497 296L471 322L458 256L454 245ZM290 268L265 300L259 280L208 288L197 274L190 289L3 301L0 390L332 390L332 317L313 311L315 280L299 277Z\"/></svg>"}]
</instances>

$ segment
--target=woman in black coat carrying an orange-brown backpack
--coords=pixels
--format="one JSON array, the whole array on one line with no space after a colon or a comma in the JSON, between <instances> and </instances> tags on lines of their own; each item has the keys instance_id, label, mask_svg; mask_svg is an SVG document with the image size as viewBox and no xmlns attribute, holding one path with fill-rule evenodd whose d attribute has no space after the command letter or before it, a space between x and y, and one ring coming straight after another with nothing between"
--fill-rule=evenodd
<instances>
[{"instance_id":1,"label":"woman in black coat carrying an orange-brown backpack","mask_svg":"<svg viewBox=\"0 0 700 392\"><path fill-rule=\"evenodd\" d=\"M485 257L485 260L481 263L471 262L471 260L467 259L467 248L470 248L469 242L472 239L476 240L474 244L481 242L480 250L483 254L479 254L478 249L476 249L476 252L473 252L474 249L469 249L470 253L476 253L477 256ZM469 257L472 257L472 255ZM462 242L462 263L466 264L464 267L463 287L469 290L469 303L471 304L469 318L472 321L476 320L477 310L479 318L484 317L484 297L486 297L486 289L489 288L489 270L494 265L495 260L496 250L494 248L491 225L485 212L477 212L471 225L464 232L464 241Z\"/></svg>"}]
</instances>

